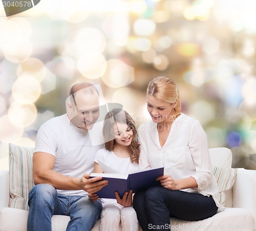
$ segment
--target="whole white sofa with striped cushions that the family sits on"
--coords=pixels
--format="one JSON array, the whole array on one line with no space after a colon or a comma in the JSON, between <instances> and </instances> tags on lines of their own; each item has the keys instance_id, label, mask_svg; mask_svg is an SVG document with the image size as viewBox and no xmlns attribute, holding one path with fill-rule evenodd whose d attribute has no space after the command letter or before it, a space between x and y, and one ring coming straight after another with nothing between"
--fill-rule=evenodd
<instances>
[{"instance_id":1,"label":"whole white sofa with striped cushions that the family sits on","mask_svg":"<svg viewBox=\"0 0 256 231\"><path fill-rule=\"evenodd\" d=\"M9 144L9 171L0 171L0 231L27 230L27 197L33 187L32 153L33 148ZM219 187L218 199L226 209L201 221L172 218L170 228L187 231L255 230L255 171L231 168L232 153L228 148L210 148L209 153L212 173ZM66 230L69 220L68 216L54 215L52 230ZM149 228L154 229L153 226ZM92 230L99 230L99 221Z\"/></svg>"}]
</instances>

